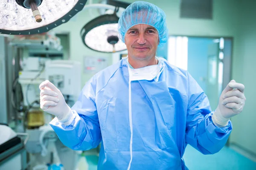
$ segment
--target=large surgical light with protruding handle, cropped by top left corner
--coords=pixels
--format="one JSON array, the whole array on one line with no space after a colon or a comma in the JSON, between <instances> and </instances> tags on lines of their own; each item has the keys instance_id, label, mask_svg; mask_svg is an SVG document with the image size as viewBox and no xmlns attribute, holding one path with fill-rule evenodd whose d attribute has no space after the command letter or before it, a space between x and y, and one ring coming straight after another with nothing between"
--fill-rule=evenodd
<instances>
[{"instance_id":1,"label":"large surgical light with protruding handle, cropped by top left corner","mask_svg":"<svg viewBox=\"0 0 256 170\"><path fill-rule=\"evenodd\" d=\"M0 34L44 33L66 23L87 0L0 0Z\"/></svg>"}]
</instances>

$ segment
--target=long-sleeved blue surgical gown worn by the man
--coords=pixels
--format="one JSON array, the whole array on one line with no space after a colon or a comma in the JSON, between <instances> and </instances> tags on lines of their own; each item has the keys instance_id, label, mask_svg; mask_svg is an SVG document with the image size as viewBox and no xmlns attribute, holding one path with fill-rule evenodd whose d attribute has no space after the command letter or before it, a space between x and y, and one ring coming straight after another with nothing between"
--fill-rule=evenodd
<instances>
[{"instance_id":1,"label":"long-sleeved blue surgical gown worn by the man","mask_svg":"<svg viewBox=\"0 0 256 170\"><path fill-rule=\"evenodd\" d=\"M162 60L158 81L131 82L131 170L185 170L187 144L213 154L232 130L231 122L222 128L213 124L209 100L195 79ZM70 125L56 117L50 122L61 142L73 150L89 150L102 142L98 170L127 170L131 160L128 83L128 63L122 59L86 83L71 108Z\"/></svg>"}]
</instances>

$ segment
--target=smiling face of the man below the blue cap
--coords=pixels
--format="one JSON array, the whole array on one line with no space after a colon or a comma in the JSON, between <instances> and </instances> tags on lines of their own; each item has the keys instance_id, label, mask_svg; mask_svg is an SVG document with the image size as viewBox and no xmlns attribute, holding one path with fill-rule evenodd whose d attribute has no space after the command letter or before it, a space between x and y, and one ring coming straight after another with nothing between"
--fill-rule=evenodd
<instances>
[{"instance_id":1,"label":"smiling face of the man below the blue cap","mask_svg":"<svg viewBox=\"0 0 256 170\"><path fill-rule=\"evenodd\" d=\"M158 44L157 30L146 24L135 25L125 34L128 55L134 59L145 60L155 57Z\"/></svg>"}]
</instances>

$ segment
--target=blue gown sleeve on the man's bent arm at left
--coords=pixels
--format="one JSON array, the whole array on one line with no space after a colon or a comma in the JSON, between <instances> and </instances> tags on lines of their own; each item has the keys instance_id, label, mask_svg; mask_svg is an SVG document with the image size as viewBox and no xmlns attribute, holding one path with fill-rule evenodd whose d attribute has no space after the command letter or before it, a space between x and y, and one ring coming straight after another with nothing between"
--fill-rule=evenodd
<instances>
[{"instance_id":1,"label":"blue gown sleeve on the man's bent arm at left","mask_svg":"<svg viewBox=\"0 0 256 170\"><path fill-rule=\"evenodd\" d=\"M73 150L90 150L102 140L95 104L96 78L91 78L82 89L79 99L71 108L73 121L63 125L57 117L50 122L61 142Z\"/></svg>"}]
</instances>

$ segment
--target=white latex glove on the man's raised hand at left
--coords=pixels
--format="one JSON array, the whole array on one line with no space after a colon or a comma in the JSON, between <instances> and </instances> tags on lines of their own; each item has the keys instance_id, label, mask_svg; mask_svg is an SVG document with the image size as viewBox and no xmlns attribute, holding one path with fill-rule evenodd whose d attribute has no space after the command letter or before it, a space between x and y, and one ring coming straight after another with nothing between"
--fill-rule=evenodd
<instances>
[{"instance_id":1,"label":"white latex glove on the man's raised hand at left","mask_svg":"<svg viewBox=\"0 0 256 170\"><path fill-rule=\"evenodd\" d=\"M49 80L39 85L40 88L40 108L47 113L55 115L59 121L65 123L72 117L72 111L65 102L61 91Z\"/></svg>"}]
</instances>

